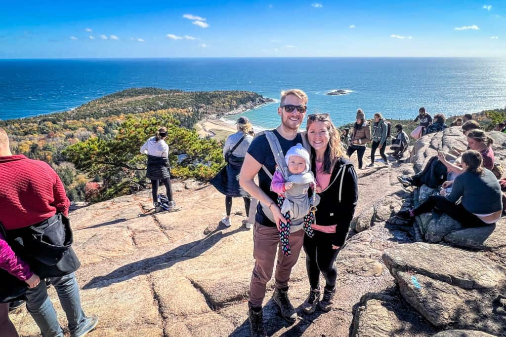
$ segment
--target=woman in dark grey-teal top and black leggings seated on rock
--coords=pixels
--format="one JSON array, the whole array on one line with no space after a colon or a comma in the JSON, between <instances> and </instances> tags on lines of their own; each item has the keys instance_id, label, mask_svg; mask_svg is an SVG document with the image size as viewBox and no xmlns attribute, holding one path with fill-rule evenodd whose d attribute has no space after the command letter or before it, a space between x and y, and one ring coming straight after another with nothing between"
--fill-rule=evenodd
<instances>
[{"instance_id":1,"label":"woman in dark grey-teal top and black leggings seated on rock","mask_svg":"<svg viewBox=\"0 0 506 337\"><path fill-rule=\"evenodd\" d=\"M502 213L502 194L497 178L483 167L481 154L475 150L462 154L462 168L465 172L455 178L450 194L445 197L430 196L415 209L399 211L396 216L411 219L437 209L465 227L485 226L497 222ZM443 183L443 187L448 185L448 181ZM460 198L460 203L456 204Z\"/></svg>"}]
</instances>

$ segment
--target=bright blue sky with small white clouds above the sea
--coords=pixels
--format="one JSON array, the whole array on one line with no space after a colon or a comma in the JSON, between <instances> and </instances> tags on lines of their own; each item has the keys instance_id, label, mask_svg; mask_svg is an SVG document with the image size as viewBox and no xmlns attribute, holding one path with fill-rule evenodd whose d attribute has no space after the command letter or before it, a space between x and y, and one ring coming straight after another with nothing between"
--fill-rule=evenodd
<instances>
[{"instance_id":1,"label":"bright blue sky with small white clouds above the sea","mask_svg":"<svg viewBox=\"0 0 506 337\"><path fill-rule=\"evenodd\" d=\"M506 57L506 1L7 1L0 58Z\"/></svg>"}]
</instances>

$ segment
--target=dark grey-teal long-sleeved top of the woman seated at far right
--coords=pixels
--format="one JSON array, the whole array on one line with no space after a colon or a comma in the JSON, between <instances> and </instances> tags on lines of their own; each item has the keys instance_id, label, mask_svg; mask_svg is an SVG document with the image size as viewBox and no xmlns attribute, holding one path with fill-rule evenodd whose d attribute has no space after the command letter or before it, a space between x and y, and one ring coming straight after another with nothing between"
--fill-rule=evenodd
<instances>
[{"instance_id":1,"label":"dark grey-teal long-sleeved top of the woman seated at far right","mask_svg":"<svg viewBox=\"0 0 506 337\"><path fill-rule=\"evenodd\" d=\"M448 201L462 197L462 206L473 214L491 214L502 209L501 186L495 175L484 169L482 174L464 172L453 181Z\"/></svg>"}]
</instances>

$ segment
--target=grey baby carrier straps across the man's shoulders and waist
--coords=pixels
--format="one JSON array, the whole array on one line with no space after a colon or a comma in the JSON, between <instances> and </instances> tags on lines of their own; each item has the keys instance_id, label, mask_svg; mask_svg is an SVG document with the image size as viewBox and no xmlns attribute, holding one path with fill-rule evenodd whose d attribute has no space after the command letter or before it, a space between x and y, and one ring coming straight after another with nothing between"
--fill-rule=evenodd
<instances>
[{"instance_id":1,"label":"grey baby carrier straps across the man's shoulders and waist","mask_svg":"<svg viewBox=\"0 0 506 337\"><path fill-rule=\"evenodd\" d=\"M265 137L267 138L267 141L269 142L269 147L271 148L272 154L274 156L274 161L276 162L276 165L278 166L279 171L283 174L283 178L286 180L288 178L288 176L290 175L290 173L288 172L288 165L286 164L286 161L284 159L284 153L283 153L283 150L281 149L281 145L279 143L278 138L276 137L274 132L272 132L272 130L259 132L256 136L259 136L262 134L265 134ZM303 147L309 153L311 153L311 146L309 145L306 131L301 132L301 137L302 137ZM271 172L269 172L269 170L267 169L267 167L265 167L265 165L262 165L262 169L267 174L267 176L272 179L273 175L271 174ZM309 168L309 170L311 170L311 167ZM255 219L255 217L257 215L257 203L258 202L259 201L257 199L252 200L251 208L249 211L249 219ZM269 220L271 220L272 222L274 222L274 217L273 217L272 212L269 208L269 205L265 205L262 202L260 202L260 205L262 206L262 211L267 216L267 218ZM251 211L253 211L253 212L251 212ZM302 223L302 221L303 221L303 219L300 219L301 223ZM292 225L298 225L298 224L299 223L292 222Z\"/></svg>"}]
</instances>

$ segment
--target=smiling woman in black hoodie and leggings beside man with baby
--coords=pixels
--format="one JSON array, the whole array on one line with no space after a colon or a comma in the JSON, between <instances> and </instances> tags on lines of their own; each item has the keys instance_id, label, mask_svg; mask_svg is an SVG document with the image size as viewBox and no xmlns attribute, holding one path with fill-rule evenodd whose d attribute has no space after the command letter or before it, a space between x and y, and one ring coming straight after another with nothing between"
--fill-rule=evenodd
<instances>
[{"instance_id":1,"label":"smiling woman in black hoodie and leggings beside man with baby","mask_svg":"<svg viewBox=\"0 0 506 337\"><path fill-rule=\"evenodd\" d=\"M328 114L309 115L306 129L312 147L312 169L323 189L316 211L314 236L304 236L309 296L302 305L312 313L319 305L327 312L332 309L337 271L334 262L346 241L350 222L358 199L357 173L346 157ZM325 279L320 300L320 273Z\"/></svg>"}]
</instances>

